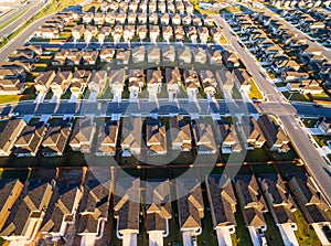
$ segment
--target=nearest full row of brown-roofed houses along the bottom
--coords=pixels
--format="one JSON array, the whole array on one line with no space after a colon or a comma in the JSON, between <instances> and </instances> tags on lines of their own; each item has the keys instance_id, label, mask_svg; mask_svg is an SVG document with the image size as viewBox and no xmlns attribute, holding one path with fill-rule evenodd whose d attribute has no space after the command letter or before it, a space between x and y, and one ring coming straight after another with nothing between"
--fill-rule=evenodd
<instances>
[{"instance_id":1,"label":"nearest full row of brown-roofed houses along the bottom","mask_svg":"<svg viewBox=\"0 0 331 246\"><path fill-rule=\"evenodd\" d=\"M114 210L116 231L120 236L139 234L140 202L143 201L147 233L167 233L166 221L172 218L171 201L177 199L180 231L202 229L204 201L200 183L194 179L140 181L135 178L110 179L110 170L102 171L103 179L87 172L84 183L61 183L54 180L0 180L0 235L6 239L33 239L34 231L54 238L66 236L67 223L76 223L77 235L99 235ZM108 177L109 175L109 177ZM108 177L106 179L106 177ZM115 185L111 190L113 183ZM225 175L205 179L214 229L236 226L236 207L242 210L246 226L266 228L264 213L270 211L276 224L296 224L297 205L309 224L328 224L330 210L320 196L311 178L291 173L289 189L279 174L236 175L233 183ZM143 185L143 192L139 190ZM175 185L177 197L172 197ZM289 192L290 191L290 192ZM290 194L291 193L291 194ZM114 204L110 195L114 194ZM237 206L238 204L238 206ZM41 225L32 228L33 218ZM29 231L29 227L31 228Z\"/></svg>"}]
</instances>

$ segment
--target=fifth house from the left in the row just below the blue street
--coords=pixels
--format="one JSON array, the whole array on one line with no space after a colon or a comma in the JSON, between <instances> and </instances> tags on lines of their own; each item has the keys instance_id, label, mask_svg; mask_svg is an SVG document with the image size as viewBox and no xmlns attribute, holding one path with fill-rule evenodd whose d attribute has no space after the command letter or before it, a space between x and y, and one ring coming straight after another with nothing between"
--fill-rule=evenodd
<instances>
[{"instance_id":1,"label":"fifth house from the left in the row just below the blue street","mask_svg":"<svg viewBox=\"0 0 331 246\"><path fill-rule=\"evenodd\" d=\"M118 139L119 121L110 120L99 127L97 135L96 156L115 156Z\"/></svg>"}]
</instances>

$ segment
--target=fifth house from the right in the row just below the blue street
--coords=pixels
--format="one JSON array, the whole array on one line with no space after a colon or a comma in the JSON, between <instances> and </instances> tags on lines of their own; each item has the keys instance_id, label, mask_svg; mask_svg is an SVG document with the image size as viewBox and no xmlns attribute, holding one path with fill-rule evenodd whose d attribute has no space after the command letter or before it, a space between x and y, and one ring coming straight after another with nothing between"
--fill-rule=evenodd
<instances>
[{"instance_id":1,"label":"fifth house from the right in the row just below the blue street","mask_svg":"<svg viewBox=\"0 0 331 246\"><path fill-rule=\"evenodd\" d=\"M170 118L171 148L178 151L191 151L192 133L188 118L182 115Z\"/></svg>"}]
</instances>

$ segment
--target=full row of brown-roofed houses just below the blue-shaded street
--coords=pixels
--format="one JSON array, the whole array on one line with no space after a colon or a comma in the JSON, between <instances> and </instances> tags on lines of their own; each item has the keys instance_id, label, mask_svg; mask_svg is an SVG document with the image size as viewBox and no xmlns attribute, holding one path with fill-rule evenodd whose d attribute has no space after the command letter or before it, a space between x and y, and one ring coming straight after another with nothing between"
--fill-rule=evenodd
<instances>
[{"instance_id":1,"label":"full row of brown-roofed houses just below the blue-shaded street","mask_svg":"<svg viewBox=\"0 0 331 246\"><path fill-rule=\"evenodd\" d=\"M105 121L104 126L97 126L90 117L82 117L72 127L70 119L54 118L50 126L38 120L26 125L23 119L11 119L4 124L0 133L1 156L10 156L12 152L18 157L34 157L39 149L46 157L62 156L67 143L74 151L114 156L118 149L117 139L121 139L120 149L124 152L141 154L143 120L140 117L124 117L121 124L119 120L110 120ZM243 148L261 148L265 143L271 151L289 150L289 138L267 115L257 120L253 117L242 118L238 127L245 131L244 140L225 119L213 121L212 118L190 119L179 115L169 118L171 141L167 143L168 125L160 118L149 117L146 120L149 154L166 154L168 148L190 151L193 143L196 151L204 154L216 153L218 147L222 152L241 152Z\"/></svg>"}]
</instances>

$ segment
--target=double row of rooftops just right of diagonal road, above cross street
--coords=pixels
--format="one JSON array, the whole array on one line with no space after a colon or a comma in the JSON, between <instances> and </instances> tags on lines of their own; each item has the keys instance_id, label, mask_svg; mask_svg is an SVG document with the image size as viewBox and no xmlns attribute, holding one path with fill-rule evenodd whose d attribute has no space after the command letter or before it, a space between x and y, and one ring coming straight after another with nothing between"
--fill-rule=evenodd
<instances>
[{"instance_id":1,"label":"double row of rooftops just right of diagonal road, above cross street","mask_svg":"<svg viewBox=\"0 0 331 246\"><path fill-rule=\"evenodd\" d=\"M280 74L280 78L288 83L290 90L299 90L301 93L319 94L323 92L323 88L319 81L311 78L309 73L318 75L324 82L330 81L328 71L330 69L330 61L323 55L321 50L316 50L307 44L307 38L298 36L297 32L288 33L289 30L282 25L277 18L273 18L266 13L256 13L255 17L249 15L236 15L237 23L239 23L252 38L252 42L260 47L261 52L266 55L264 62L271 64L271 68L276 74ZM300 51L297 58L303 62L309 69L309 73L300 72L302 68L296 61L290 60L285 50L280 47L274 40L258 26L256 26L253 20L258 20L268 31L278 35L279 42L285 44L285 50L290 51L296 49ZM287 35L288 34L288 35ZM250 39L250 38L249 38ZM295 39L296 41L293 41ZM293 42L289 42L289 40ZM300 40L301 43L297 41ZM250 41L249 41L250 42Z\"/></svg>"}]
</instances>

